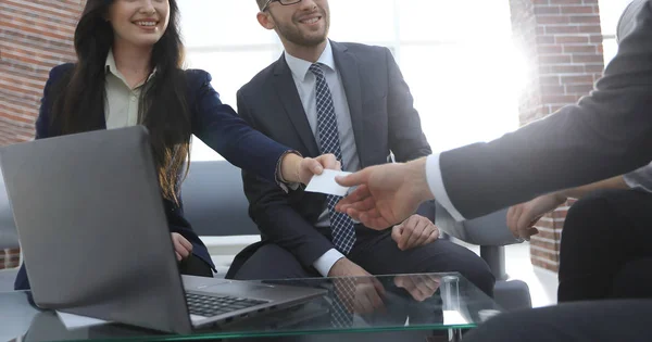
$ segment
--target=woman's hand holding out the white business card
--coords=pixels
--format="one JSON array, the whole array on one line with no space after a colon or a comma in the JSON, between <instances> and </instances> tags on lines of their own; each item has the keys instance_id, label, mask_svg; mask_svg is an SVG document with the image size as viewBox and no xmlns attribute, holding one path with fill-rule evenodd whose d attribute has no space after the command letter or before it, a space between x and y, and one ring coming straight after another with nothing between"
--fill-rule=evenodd
<instances>
[{"instance_id":1,"label":"woman's hand holding out the white business card","mask_svg":"<svg viewBox=\"0 0 652 342\"><path fill-rule=\"evenodd\" d=\"M287 182L308 185L314 175L321 175L325 168L340 170L342 164L335 154L322 154L313 159L288 153L280 161L281 177Z\"/></svg>"}]
</instances>

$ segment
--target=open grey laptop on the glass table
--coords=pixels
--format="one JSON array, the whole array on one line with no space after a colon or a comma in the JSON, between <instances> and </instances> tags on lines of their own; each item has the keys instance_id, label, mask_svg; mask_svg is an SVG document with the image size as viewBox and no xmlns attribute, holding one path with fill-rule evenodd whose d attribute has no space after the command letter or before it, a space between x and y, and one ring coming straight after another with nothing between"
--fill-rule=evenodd
<instances>
[{"instance_id":1,"label":"open grey laptop on the glass table","mask_svg":"<svg viewBox=\"0 0 652 342\"><path fill-rule=\"evenodd\" d=\"M189 333L327 293L181 277L142 126L12 144L0 165L40 308Z\"/></svg>"}]
</instances>

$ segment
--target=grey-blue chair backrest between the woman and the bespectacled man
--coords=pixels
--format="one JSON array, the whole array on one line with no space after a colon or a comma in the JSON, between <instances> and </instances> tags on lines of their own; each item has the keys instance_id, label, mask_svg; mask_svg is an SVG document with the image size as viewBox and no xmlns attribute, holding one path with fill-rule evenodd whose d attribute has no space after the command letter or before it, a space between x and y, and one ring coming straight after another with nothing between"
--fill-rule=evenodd
<instances>
[{"instance_id":1,"label":"grey-blue chair backrest between the woman and the bespectacled man","mask_svg":"<svg viewBox=\"0 0 652 342\"><path fill-rule=\"evenodd\" d=\"M186 218L199 236L260 233L249 217L241 172L226 161L192 162L181 197Z\"/></svg>"}]
</instances>

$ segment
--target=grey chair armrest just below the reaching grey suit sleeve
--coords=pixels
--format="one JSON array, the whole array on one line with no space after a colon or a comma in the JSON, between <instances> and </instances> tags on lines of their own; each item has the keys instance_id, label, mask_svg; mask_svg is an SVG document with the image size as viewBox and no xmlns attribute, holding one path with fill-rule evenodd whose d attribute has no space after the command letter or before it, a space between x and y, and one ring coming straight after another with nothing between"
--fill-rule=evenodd
<instances>
[{"instance_id":1,"label":"grey chair armrest just below the reaching grey suit sleeve","mask_svg":"<svg viewBox=\"0 0 652 342\"><path fill-rule=\"evenodd\" d=\"M449 236L478 245L506 245L519 243L507 228L507 210L493 212L478 218L456 221L439 203L436 204L435 224Z\"/></svg>"}]
</instances>

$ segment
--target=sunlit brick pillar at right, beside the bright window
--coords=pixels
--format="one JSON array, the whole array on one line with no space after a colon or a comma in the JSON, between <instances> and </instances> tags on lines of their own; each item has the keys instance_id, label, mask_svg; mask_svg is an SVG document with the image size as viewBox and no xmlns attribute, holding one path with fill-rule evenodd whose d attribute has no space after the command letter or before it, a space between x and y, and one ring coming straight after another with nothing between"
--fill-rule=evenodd
<instances>
[{"instance_id":1,"label":"sunlit brick pillar at right, beside the bright window","mask_svg":"<svg viewBox=\"0 0 652 342\"><path fill-rule=\"evenodd\" d=\"M602 76L598 0L510 0L514 38L527 60L529 81L522 93L521 124L577 102ZM543 217L530 243L534 265L559 268L561 231L568 206Z\"/></svg>"}]
</instances>

